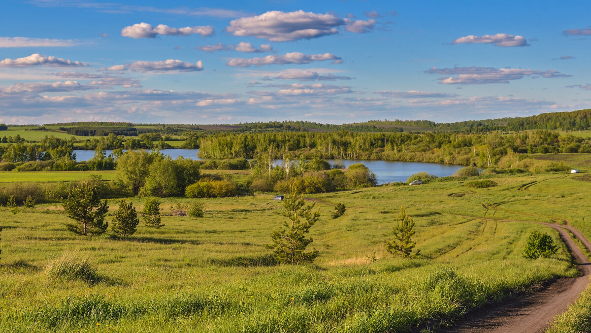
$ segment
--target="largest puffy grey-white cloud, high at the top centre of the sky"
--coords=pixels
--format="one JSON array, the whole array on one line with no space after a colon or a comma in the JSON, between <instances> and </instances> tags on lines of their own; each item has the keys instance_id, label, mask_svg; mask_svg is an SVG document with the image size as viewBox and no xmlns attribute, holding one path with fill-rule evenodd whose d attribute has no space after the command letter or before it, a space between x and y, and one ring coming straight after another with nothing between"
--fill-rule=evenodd
<instances>
[{"instance_id":1,"label":"largest puffy grey-white cloud, high at the top centre of the sky","mask_svg":"<svg viewBox=\"0 0 591 333\"><path fill-rule=\"evenodd\" d=\"M270 41L292 41L336 34L345 21L333 14L313 12L268 11L264 14L230 21L226 31L235 36L265 38Z\"/></svg>"}]
</instances>

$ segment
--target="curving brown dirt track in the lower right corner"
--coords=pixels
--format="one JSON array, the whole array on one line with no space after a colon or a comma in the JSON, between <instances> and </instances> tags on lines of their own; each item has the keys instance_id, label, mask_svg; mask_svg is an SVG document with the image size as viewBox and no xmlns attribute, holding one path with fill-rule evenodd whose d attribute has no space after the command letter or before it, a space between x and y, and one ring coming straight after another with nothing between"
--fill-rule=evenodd
<instances>
[{"instance_id":1,"label":"curving brown dirt track in the lower right corner","mask_svg":"<svg viewBox=\"0 0 591 333\"><path fill-rule=\"evenodd\" d=\"M530 222L530 221L521 221ZM533 222L533 221L531 221ZM558 279L547 287L541 287L540 292L525 294L517 299L492 305L487 308L469 313L466 321L457 326L443 329L440 332L543 332L550 324L554 316L563 313L569 305L579 297L579 294L589 285L591 264L583 252L574 244L565 229L583 242L591 250L591 243L576 228L570 225L556 225L543 222L534 222L547 225L560 232L564 242L570 248L573 257L579 263L582 276L576 278Z\"/></svg>"}]
</instances>

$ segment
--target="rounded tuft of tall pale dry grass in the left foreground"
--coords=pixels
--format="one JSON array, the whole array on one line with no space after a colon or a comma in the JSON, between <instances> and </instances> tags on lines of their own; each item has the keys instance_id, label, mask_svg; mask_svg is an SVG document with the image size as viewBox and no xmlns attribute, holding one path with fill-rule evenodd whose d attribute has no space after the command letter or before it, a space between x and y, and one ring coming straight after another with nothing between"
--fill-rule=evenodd
<instances>
[{"instance_id":1,"label":"rounded tuft of tall pale dry grass in the left foreground","mask_svg":"<svg viewBox=\"0 0 591 333\"><path fill-rule=\"evenodd\" d=\"M47 267L47 276L56 280L85 280L97 282L100 276L89 261L78 259L74 253L64 253Z\"/></svg>"}]
</instances>

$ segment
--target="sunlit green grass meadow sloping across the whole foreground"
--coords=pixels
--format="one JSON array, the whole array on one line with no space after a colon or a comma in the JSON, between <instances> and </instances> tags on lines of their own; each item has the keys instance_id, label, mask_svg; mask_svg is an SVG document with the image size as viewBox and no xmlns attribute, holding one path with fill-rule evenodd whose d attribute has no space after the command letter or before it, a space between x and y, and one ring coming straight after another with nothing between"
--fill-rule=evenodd
<instances>
[{"instance_id":1,"label":"sunlit green grass meadow sloping across the whole foreground","mask_svg":"<svg viewBox=\"0 0 591 333\"><path fill-rule=\"evenodd\" d=\"M311 228L311 245L320 256L301 266L276 266L265 248L283 220L282 203L271 194L164 199L164 214L171 205L200 200L206 215L163 216L163 228L140 224L125 239L70 234L56 204L15 215L0 208L0 327L384 332L449 322L511 290L577 274L554 229L519 221L568 220L589 237L591 186L579 176L499 175L493 177L498 186L488 189L453 180L313 195L322 216ZM132 200L141 210L145 199ZM347 206L345 216L332 219L339 202ZM116 202L109 206L112 213ZM401 206L415 222L421 256L413 260L385 251ZM521 257L534 229L553 236L556 255ZM47 267L64 254L88 260L98 281L52 277Z\"/></svg>"}]
</instances>

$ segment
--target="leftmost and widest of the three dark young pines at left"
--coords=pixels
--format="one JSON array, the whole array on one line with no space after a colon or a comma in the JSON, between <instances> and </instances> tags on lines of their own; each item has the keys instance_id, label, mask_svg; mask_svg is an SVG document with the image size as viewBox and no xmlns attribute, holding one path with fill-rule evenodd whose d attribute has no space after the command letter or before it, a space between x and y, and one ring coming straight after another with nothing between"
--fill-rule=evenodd
<instances>
[{"instance_id":1,"label":"leftmost and widest of the three dark young pines at left","mask_svg":"<svg viewBox=\"0 0 591 333\"><path fill-rule=\"evenodd\" d=\"M105 222L105 215L109 206L106 200L100 201L96 185L83 183L74 187L61 204L66 215L76 222L66 224L69 231L79 235L102 234L106 231L108 223Z\"/></svg>"}]
</instances>

